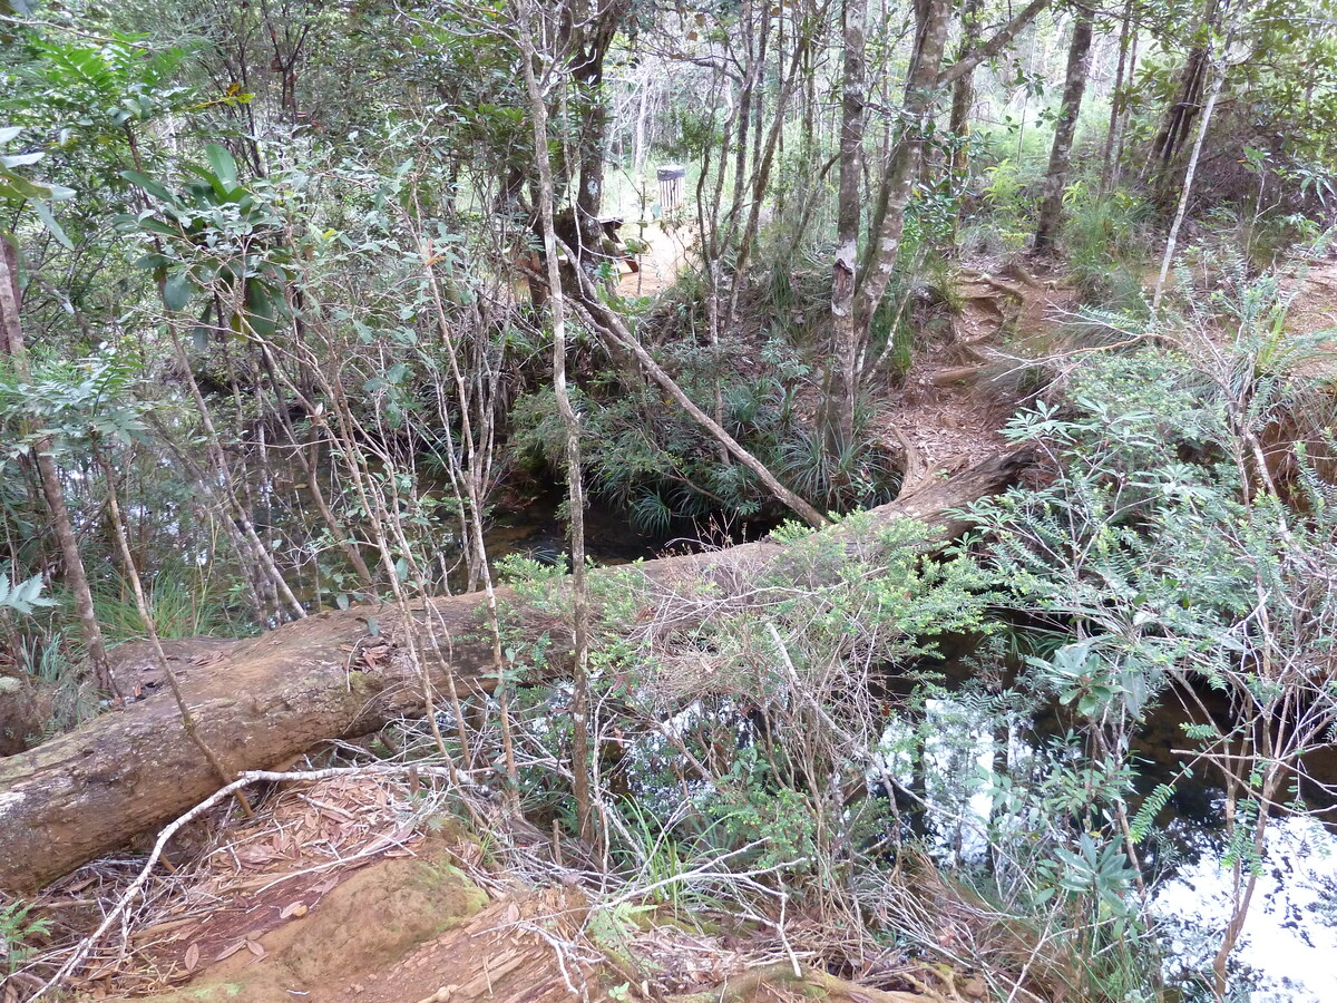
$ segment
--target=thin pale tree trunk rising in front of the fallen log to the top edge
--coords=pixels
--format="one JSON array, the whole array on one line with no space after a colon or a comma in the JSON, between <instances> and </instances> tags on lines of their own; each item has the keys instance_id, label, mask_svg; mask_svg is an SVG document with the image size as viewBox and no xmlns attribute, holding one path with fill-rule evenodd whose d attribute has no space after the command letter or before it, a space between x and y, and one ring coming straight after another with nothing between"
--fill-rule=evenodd
<instances>
[{"instance_id":1,"label":"thin pale tree trunk rising in front of the fallen log to the top edge","mask_svg":"<svg viewBox=\"0 0 1337 1003\"><path fill-rule=\"evenodd\" d=\"M567 391L566 300L558 262L558 231L554 223L552 164L548 159L548 111L535 76L533 13L529 0L521 0L524 24L520 28L524 83L529 92L533 119L533 148L539 169L539 214L543 225L543 253L548 266L548 309L552 314L552 389L567 433L567 489L571 510L571 602L575 667L571 675L571 773L572 794L580 839L594 840L594 809L590 802L590 594L584 559L584 485L580 479L580 421ZM574 269L579 278L584 273Z\"/></svg>"}]
</instances>

